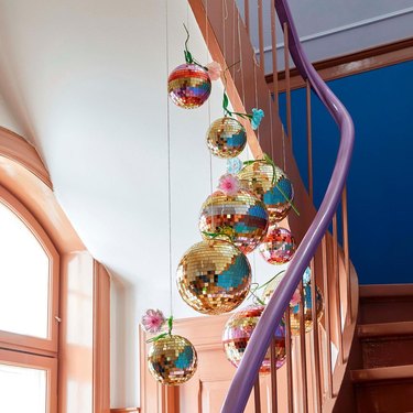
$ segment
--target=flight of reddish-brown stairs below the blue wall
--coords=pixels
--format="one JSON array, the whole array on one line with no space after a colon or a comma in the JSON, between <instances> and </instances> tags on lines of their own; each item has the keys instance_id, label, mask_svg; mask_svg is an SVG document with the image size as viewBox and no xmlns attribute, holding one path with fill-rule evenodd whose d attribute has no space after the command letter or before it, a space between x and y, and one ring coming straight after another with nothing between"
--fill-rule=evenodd
<instances>
[{"instance_id":1,"label":"flight of reddish-brown stairs below the blue wall","mask_svg":"<svg viewBox=\"0 0 413 413\"><path fill-rule=\"evenodd\" d=\"M413 412L413 285L362 285L359 296L358 412Z\"/></svg>"}]
</instances>

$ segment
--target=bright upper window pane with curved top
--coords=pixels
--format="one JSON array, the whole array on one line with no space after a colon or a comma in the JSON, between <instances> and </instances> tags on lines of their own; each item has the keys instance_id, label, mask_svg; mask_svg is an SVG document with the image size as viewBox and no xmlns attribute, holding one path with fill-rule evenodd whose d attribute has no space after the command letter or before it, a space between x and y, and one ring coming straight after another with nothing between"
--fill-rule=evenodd
<instances>
[{"instance_id":1,"label":"bright upper window pane with curved top","mask_svg":"<svg viewBox=\"0 0 413 413\"><path fill-rule=\"evenodd\" d=\"M48 258L1 202L0 228L0 330L47 338Z\"/></svg>"}]
</instances>

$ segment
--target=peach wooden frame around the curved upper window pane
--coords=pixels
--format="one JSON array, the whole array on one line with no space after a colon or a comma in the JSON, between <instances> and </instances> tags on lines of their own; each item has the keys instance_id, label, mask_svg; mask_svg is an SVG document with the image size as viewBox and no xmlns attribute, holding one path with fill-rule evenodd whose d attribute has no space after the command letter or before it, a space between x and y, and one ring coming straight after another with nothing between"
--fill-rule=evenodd
<instances>
[{"instance_id":1,"label":"peach wooden frame around the curved upper window pane","mask_svg":"<svg viewBox=\"0 0 413 413\"><path fill-rule=\"evenodd\" d=\"M0 203L6 205L33 233L45 251L48 260L48 337L40 338L0 330L0 347L11 350L29 351L36 355L56 356L58 351L58 295L59 254L52 240L32 213L10 192L0 187ZM57 317L57 318L56 318Z\"/></svg>"}]
</instances>

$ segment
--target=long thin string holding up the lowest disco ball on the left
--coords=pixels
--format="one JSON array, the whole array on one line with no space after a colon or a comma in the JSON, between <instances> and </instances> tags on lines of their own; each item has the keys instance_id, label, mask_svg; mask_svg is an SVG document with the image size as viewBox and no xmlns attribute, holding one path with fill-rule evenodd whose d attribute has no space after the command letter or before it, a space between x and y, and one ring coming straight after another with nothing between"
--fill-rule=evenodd
<instances>
[{"instance_id":1,"label":"long thin string holding up the lowest disco ball on the left","mask_svg":"<svg viewBox=\"0 0 413 413\"><path fill-rule=\"evenodd\" d=\"M166 33L166 78L170 74L170 33L169 33L169 9L167 1L165 0L165 33ZM169 222L169 267L170 267L170 315L173 315L173 295L172 295L172 200L171 200L171 109L170 97L166 96L166 148L167 148L167 222Z\"/></svg>"}]
</instances>

